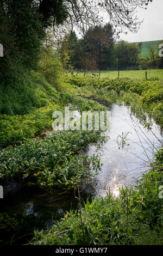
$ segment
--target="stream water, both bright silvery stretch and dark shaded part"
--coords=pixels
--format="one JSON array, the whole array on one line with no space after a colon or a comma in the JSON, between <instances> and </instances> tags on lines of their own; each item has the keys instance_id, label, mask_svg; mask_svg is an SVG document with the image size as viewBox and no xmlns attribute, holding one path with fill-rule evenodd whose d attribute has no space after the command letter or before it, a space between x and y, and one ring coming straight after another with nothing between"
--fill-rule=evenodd
<instances>
[{"instance_id":1,"label":"stream water, both bright silvery stretch and dark shaded part","mask_svg":"<svg viewBox=\"0 0 163 256\"><path fill-rule=\"evenodd\" d=\"M154 121L152 131L147 130L131 115L127 106L97 101L107 106L111 114L111 125L106 143L98 150L95 145L90 145L85 151L89 156L98 153L103 166L92 186L86 188L83 198L87 195L93 195L94 198L105 197L109 190L114 196L118 196L119 187L135 185L137 179L148 172L149 164L162 141L159 126ZM126 136L123 144L120 138L122 132L123 137ZM33 231L34 227L39 230L51 228L53 220L64 217L70 209L77 209L78 200L72 192L56 189L53 193L48 193L28 182L4 196L1 206L1 212L30 216L29 225Z\"/></svg>"}]
</instances>

